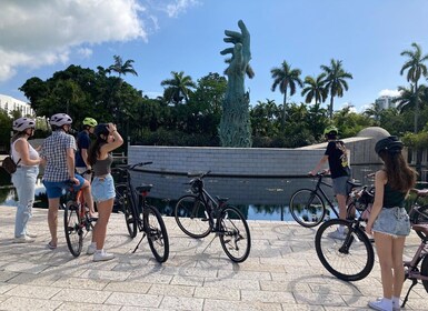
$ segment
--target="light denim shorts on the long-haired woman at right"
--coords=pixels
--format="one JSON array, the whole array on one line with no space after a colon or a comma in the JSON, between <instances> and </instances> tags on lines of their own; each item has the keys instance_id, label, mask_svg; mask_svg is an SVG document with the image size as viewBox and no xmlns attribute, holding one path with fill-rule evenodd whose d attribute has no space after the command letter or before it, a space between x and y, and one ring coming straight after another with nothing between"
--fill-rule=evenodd
<instances>
[{"instance_id":1,"label":"light denim shorts on the long-haired woman at right","mask_svg":"<svg viewBox=\"0 0 428 311\"><path fill-rule=\"evenodd\" d=\"M382 208L374 223L375 232L392 237L406 237L410 234L410 220L405 208Z\"/></svg>"}]
</instances>

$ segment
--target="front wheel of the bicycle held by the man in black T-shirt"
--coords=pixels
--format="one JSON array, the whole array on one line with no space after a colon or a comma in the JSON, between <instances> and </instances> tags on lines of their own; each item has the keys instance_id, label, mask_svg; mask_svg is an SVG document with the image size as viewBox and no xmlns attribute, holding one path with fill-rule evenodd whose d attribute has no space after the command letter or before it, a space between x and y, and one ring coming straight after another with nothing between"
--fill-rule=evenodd
<instances>
[{"instance_id":1,"label":"front wheel of the bicycle held by the man in black T-shirt","mask_svg":"<svg viewBox=\"0 0 428 311\"><path fill-rule=\"evenodd\" d=\"M306 228L316 227L326 217L326 205L319 194L310 189L297 190L290 199L292 218Z\"/></svg>"}]
</instances>

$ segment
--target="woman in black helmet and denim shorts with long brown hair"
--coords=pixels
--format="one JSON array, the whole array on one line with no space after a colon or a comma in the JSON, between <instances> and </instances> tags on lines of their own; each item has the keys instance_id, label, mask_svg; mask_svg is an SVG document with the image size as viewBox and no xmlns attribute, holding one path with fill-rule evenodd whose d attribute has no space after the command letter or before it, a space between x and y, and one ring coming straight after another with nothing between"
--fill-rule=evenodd
<instances>
[{"instance_id":1,"label":"woman in black helmet and denim shorts with long brown hair","mask_svg":"<svg viewBox=\"0 0 428 311\"><path fill-rule=\"evenodd\" d=\"M397 137L379 140L375 150L385 165L376 172L375 202L366 232L375 237L384 298L370 301L369 307L390 311L400 309L399 298L405 280L402 252L406 237L410 233L404 202L415 185L416 173L405 161L402 142Z\"/></svg>"}]
</instances>

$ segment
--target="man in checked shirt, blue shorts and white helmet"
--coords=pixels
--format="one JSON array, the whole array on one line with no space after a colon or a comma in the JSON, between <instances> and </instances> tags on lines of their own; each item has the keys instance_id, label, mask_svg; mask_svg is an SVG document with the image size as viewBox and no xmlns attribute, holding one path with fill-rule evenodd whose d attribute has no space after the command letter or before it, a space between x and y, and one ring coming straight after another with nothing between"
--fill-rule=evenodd
<instances>
[{"instance_id":1,"label":"man in checked shirt, blue shorts and white helmet","mask_svg":"<svg viewBox=\"0 0 428 311\"><path fill-rule=\"evenodd\" d=\"M69 134L71 130L71 118L66 113L57 113L50 118L52 134L48 137L40 151L40 158L46 164L43 173L43 184L48 194L49 211L48 223L51 240L48 248L53 250L58 244L58 207L62 195L62 190L68 187L68 182L74 183L74 189L82 189L84 201L89 209L93 210L93 201L89 181L81 175L74 174L74 151L76 140Z\"/></svg>"}]
</instances>

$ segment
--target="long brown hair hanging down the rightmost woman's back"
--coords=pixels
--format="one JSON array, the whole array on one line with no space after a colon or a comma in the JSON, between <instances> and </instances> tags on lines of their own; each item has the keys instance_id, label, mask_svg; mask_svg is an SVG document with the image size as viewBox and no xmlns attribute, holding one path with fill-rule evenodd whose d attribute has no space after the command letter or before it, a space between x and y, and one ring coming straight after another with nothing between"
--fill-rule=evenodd
<instances>
[{"instance_id":1,"label":"long brown hair hanging down the rightmost woman's back","mask_svg":"<svg viewBox=\"0 0 428 311\"><path fill-rule=\"evenodd\" d=\"M406 162L401 152L391 153L381 150L379 157L384 160L388 184L397 191L407 192L415 187L416 172Z\"/></svg>"}]
</instances>

